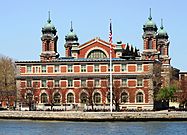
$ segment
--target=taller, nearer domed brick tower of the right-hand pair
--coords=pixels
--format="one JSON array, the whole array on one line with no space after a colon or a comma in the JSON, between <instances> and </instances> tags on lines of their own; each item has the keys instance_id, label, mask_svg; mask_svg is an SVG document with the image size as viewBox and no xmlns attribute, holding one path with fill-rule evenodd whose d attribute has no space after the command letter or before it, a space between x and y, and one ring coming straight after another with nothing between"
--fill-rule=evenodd
<instances>
[{"instance_id":1,"label":"taller, nearer domed brick tower of the right-hand pair","mask_svg":"<svg viewBox=\"0 0 187 135\"><path fill-rule=\"evenodd\" d=\"M158 51L156 45L156 34L157 34L157 26L153 22L151 17L151 8L150 15L148 17L148 21L143 25L143 59L158 59Z\"/></svg>"}]
</instances>

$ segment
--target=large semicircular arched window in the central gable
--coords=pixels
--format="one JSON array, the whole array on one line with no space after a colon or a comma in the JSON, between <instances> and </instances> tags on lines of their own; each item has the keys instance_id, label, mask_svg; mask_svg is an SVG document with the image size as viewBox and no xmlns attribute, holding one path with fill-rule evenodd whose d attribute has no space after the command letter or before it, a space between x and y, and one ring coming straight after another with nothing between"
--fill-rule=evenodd
<instances>
[{"instance_id":1,"label":"large semicircular arched window in the central gable","mask_svg":"<svg viewBox=\"0 0 187 135\"><path fill-rule=\"evenodd\" d=\"M90 58L90 59L106 58L106 54L103 51L101 51L101 50L92 50L88 54L87 58Z\"/></svg>"}]
</instances>

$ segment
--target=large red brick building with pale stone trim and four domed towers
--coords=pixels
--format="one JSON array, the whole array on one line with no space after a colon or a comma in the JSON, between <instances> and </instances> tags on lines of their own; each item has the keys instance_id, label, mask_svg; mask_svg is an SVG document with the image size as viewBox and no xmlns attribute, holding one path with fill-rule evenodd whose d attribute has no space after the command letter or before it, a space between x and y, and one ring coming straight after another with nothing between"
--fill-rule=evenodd
<instances>
[{"instance_id":1,"label":"large red brick building with pale stone trim and four domed towers","mask_svg":"<svg viewBox=\"0 0 187 135\"><path fill-rule=\"evenodd\" d=\"M151 14L143 25L143 52L120 42L112 51L114 107L153 109L154 95L170 81L169 41L163 24L159 31ZM65 57L57 52L58 35L50 17L42 28L39 61L17 61L20 104L37 109L109 109L110 43L98 37L79 44L78 36L65 36Z\"/></svg>"}]
</instances>

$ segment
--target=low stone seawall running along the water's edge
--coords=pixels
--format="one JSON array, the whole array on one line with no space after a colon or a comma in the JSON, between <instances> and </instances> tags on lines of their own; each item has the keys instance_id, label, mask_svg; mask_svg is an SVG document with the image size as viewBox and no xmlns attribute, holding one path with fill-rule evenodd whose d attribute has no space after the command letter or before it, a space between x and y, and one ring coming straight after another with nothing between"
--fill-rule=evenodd
<instances>
[{"instance_id":1,"label":"low stone seawall running along the water's edge","mask_svg":"<svg viewBox=\"0 0 187 135\"><path fill-rule=\"evenodd\" d=\"M0 111L0 119L61 121L187 121L187 112Z\"/></svg>"}]
</instances>

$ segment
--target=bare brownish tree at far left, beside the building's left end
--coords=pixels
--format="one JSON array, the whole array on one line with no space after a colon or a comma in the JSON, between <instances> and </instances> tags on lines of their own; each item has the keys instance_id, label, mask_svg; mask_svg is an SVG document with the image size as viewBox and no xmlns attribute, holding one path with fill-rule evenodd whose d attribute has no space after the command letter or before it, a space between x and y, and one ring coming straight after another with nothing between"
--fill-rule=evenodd
<instances>
[{"instance_id":1,"label":"bare brownish tree at far left, beside the building's left end","mask_svg":"<svg viewBox=\"0 0 187 135\"><path fill-rule=\"evenodd\" d=\"M7 102L7 106L10 103L16 101L16 68L15 63L11 58L0 58L0 99Z\"/></svg>"}]
</instances>

